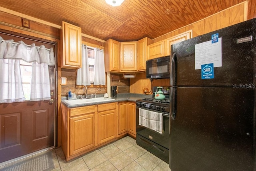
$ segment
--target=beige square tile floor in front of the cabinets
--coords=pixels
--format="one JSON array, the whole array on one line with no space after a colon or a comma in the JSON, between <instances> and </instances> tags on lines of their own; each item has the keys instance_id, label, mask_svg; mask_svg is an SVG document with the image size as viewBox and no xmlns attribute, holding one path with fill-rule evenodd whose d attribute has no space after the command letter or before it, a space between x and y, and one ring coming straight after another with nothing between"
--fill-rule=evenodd
<instances>
[{"instance_id":1,"label":"beige square tile floor in front of the cabinets","mask_svg":"<svg viewBox=\"0 0 256 171\"><path fill-rule=\"evenodd\" d=\"M52 149L52 157L53 171L170 171L168 163L138 146L136 140L128 136L68 162L61 148Z\"/></svg>"}]
</instances>

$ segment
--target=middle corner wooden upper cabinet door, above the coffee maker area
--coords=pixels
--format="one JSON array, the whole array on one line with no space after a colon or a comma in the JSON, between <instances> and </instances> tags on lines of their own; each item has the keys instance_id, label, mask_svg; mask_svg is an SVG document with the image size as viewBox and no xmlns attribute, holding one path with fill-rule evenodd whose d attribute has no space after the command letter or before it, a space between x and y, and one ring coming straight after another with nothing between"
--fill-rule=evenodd
<instances>
[{"instance_id":1,"label":"middle corner wooden upper cabinet door, above the coffee maker area","mask_svg":"<svg viewBox=\"0 0 256 171\"><path fill-rule=\"evenodd\" d=\"M121 71L137 70L137 42L121 42Z\"/></svg>"}]
</instances>

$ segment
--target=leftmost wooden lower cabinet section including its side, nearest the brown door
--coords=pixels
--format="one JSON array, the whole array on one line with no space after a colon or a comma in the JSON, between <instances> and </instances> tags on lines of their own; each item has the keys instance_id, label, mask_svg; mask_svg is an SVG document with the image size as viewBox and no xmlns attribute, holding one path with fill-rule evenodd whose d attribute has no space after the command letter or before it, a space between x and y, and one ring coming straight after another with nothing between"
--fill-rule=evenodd
<instances>
[{"instance_id":1,"label":"leftmost wooden lower cabinet section including its side, nearest the brown door","mask_svg":"<svg viewBox=\"0 0 256 171\"><path fill-rule=\"evenodd\" d=\"M61 148L70 160L96 146L97 105L68 108L61 105Z\"/></svg>"}]
</instances>

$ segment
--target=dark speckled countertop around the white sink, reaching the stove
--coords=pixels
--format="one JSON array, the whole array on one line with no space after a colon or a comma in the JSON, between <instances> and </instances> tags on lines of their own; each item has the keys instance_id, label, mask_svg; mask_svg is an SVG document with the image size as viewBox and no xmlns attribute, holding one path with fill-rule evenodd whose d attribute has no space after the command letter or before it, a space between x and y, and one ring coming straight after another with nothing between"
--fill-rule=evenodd
<instances>
[{"instance_id":1,"label":"dark speckled countertop around the white sink, reaching the stove","mask_svg":"<svg viewBox=\"0 0 256 171\"><path fill-rule=\"evenodd\" d=\"M98 94L96 97L103 97L103 94ZM61 101L62 104L66 105L68 108L73 108L73 107L82 107L82 106L88 106L88 105L98 105L98 104L103 104L103 103L113 103L113 102L120 102L120 101L134 101L146 97L152 97L152 95L144 95L144 94L137 94L137 93L118 93L117 97L112 98L115 100L111 101L100 101L100 102L90 102L90 103L82 103L82 104L76 104L76 105L70 105L66 103L67 97L62 97Z\"/></svg>"}]
</instances>

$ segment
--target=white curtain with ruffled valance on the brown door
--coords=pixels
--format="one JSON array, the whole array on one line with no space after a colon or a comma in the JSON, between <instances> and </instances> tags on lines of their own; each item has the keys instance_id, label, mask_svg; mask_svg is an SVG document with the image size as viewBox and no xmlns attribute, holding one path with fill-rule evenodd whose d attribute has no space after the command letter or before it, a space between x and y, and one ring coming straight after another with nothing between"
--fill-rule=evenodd
<instances>
[{"instance_id":1,"label":"white curtain with ruffled valance on the brown door","mask_svg":"<svg viewBox=\"0 0 256 171\"><path fill-rule=\"evenodd\" d=\"M50 51L42 45L35 44L27 48L25 43L3 40L0 37L0 103L10 103L25 99L22 89L20 60L33 62L31 80L31 99L50 99L50 81L48 66L55 66L53 49ZM48 81L46 81L48 79Z\"/></svg>"}]
</instances>

